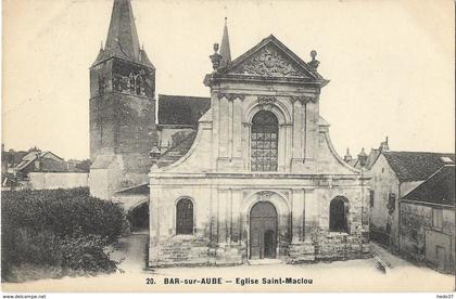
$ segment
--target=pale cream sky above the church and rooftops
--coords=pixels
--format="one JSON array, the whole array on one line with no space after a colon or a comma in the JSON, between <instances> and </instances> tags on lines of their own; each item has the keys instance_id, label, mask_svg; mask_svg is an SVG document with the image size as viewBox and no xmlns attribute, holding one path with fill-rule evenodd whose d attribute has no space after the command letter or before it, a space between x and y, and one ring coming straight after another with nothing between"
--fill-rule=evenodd
<instances>
[{"instance_id":1,"label":"pale cream sky above the church and rooftops","mask_svg":"<svg viewBox=\"0 0 456 299\"><path fill-rule=\"evenodd\" d=\"M89 66L112 0L3 0L2 142L89 156ZM452 0L132 0L156 93L208 96L208 55L228 17L231 57L273 34L330 82L320 114L340 155L455 151Z\"/></svg>"}]
</instances>

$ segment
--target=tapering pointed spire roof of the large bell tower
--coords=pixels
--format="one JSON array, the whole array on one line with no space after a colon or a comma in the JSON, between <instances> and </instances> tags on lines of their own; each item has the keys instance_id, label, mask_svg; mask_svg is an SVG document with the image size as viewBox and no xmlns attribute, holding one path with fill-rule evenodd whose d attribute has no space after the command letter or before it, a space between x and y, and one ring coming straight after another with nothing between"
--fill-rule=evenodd
<instances>
[{"instance_id":1,"label":"tapering pointed spire roof of the large bell tower","mask_svg":"<svg viewBox=\"0 0 456 299\"><path fill-rule=\"evenodd\" d=\"M153 68L145 52L139 47L130 0L114 0L106 44L104 50L100 49L93 65L110 57L123 58Z\"/></svg>"}]
</instances>

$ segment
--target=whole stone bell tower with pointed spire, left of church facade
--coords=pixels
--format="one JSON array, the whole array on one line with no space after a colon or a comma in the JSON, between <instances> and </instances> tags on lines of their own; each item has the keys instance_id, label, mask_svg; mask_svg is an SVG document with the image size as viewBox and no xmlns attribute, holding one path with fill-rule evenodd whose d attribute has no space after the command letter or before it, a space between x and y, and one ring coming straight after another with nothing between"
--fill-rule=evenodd
<instances>
[{"instance_id":1,"label":"whole stone bell tower with pointed spire, left of church facade","mask_svg":"<svg viewBox=\"0 0 456 299\"><path fill-rule=\"evenodd\" d=\"M106 43L90 67L90 192L109 199L147 182L156 143L155 67L140 48L130 0L114 0Z\"/></svg>"}]
</instances>

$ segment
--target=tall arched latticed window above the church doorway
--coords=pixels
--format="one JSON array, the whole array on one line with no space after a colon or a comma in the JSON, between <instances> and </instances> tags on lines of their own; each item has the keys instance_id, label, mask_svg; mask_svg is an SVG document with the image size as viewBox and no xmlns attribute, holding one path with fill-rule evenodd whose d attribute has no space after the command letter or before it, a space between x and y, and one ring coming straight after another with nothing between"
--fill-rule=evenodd
<instances>
[{"instance_id":1,"label":"tall arched latticed window above the church doorway","mask_svg":"<svg viewBox=\"0 0 456 299\"><path fill-rule=\"evenodd\" d=\"M274 113L261 110L252 119L252 171L277 171L279 125Z\"/></svg>"}]
</instances>

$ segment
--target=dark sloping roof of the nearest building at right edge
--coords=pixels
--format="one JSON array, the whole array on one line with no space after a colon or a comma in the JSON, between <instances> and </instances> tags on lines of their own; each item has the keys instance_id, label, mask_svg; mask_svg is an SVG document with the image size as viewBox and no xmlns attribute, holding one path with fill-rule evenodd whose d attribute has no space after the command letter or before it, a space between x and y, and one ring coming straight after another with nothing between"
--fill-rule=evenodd
<instances>
[{"instance_id":1,"label":"dark sloping roof of the nearest building at right edge","mask_svg":"<svg viewBox=\"0 0 456 299\"><path fill-rule=\"evenodd\" d=\"M455 166L443 166L426 182L404 196L404 199L454 206Z\"/></svg>"}]
</instances>

